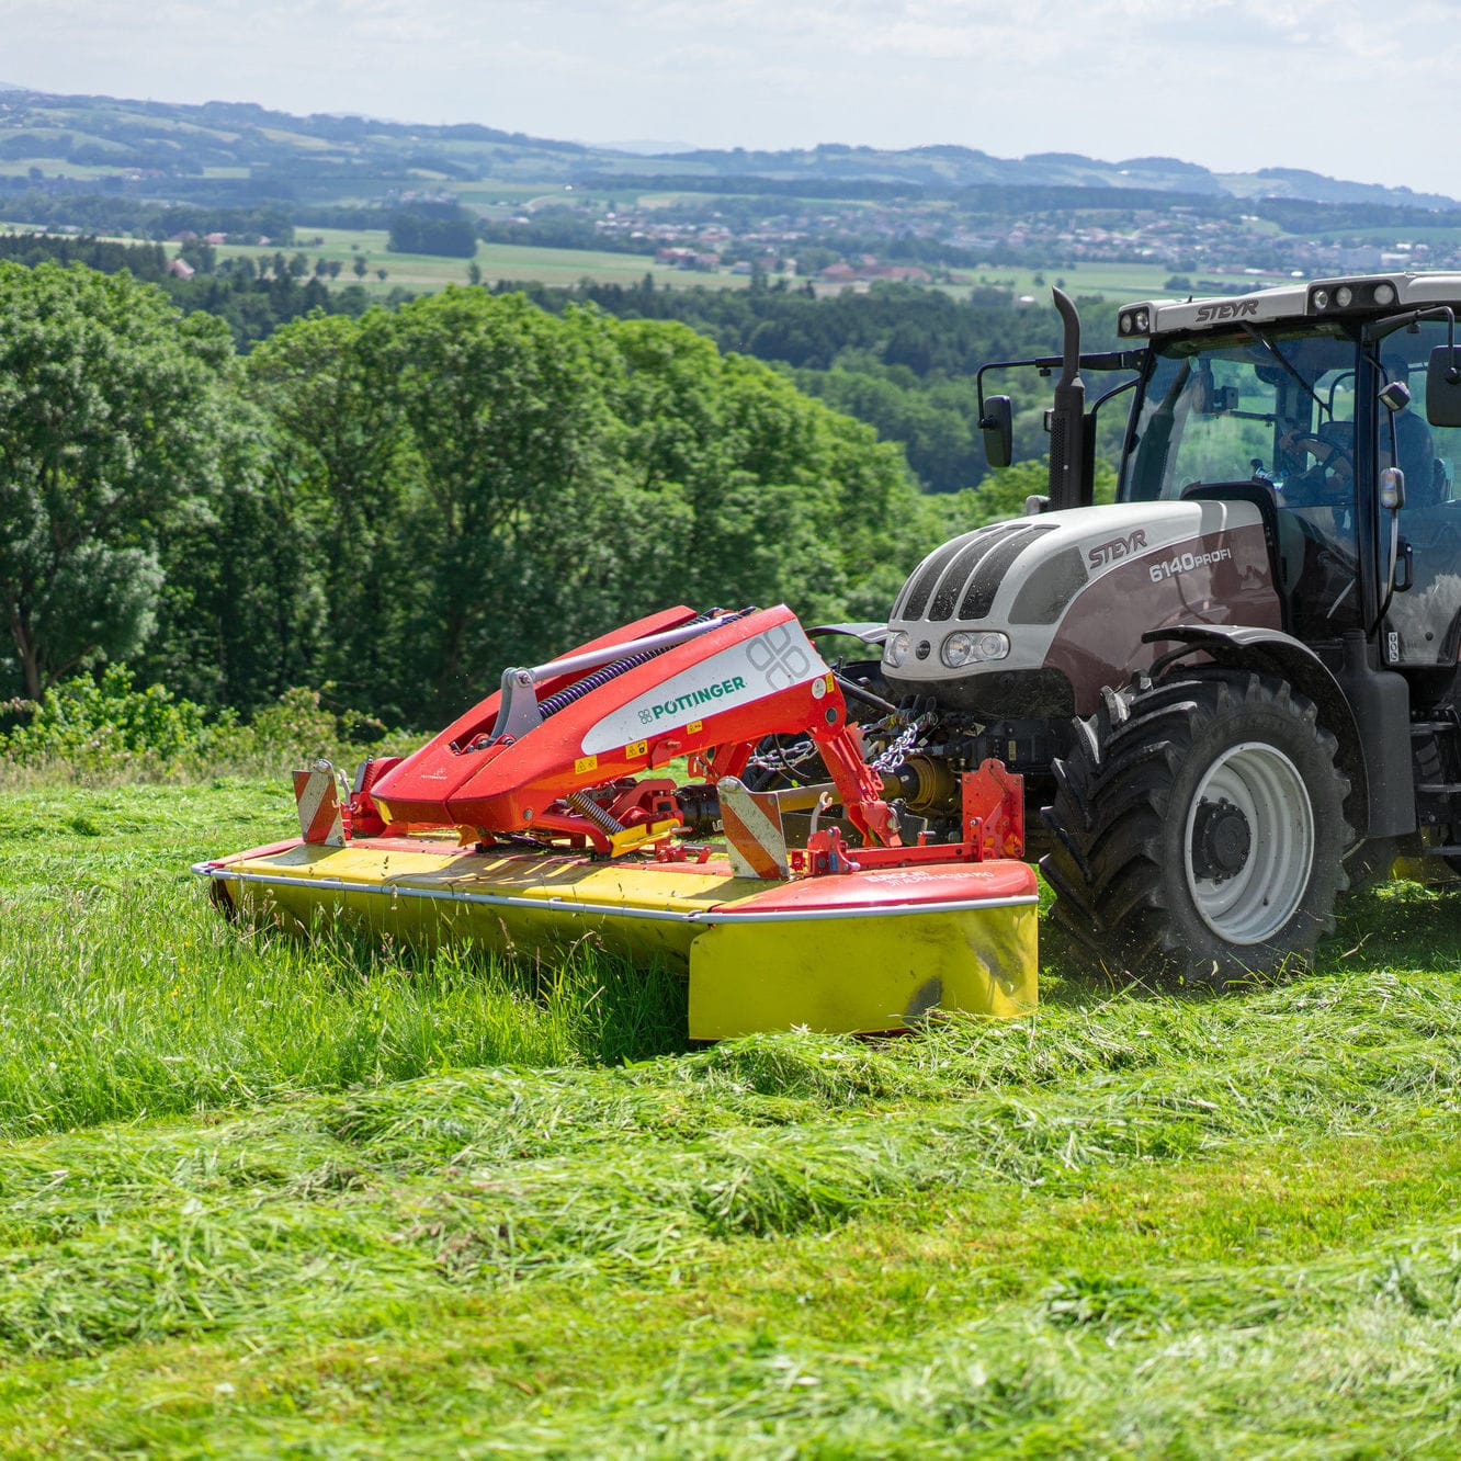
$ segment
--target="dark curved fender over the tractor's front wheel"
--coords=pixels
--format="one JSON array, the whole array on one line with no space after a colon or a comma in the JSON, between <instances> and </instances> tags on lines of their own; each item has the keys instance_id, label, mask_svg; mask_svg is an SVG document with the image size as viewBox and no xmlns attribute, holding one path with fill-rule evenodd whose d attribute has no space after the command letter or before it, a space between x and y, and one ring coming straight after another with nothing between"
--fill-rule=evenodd
<instances>
[{"instance_id":1,"label":"dark curved fender over the tractor's front wheel","mask_svg":"<svg viewBox=\"0 0 1461 1461\"><path fill-rule=\"evenodd\" d=\"M1338 675L1308 644L1280 630L1178 624L1141 636L1144 644L1166 640L1192 653L1201 650L1214 663L1267 669L1289 681L1318 706L1319 719L1338 738L1354 825L1369 837L1398 837L1416 830L1410 690L1394 671L1370 669L1363 634L1344 636L1344 665ZM1182 655L1180 649L1172 650L1154 668Z\"/></svg>"}]
</instances>

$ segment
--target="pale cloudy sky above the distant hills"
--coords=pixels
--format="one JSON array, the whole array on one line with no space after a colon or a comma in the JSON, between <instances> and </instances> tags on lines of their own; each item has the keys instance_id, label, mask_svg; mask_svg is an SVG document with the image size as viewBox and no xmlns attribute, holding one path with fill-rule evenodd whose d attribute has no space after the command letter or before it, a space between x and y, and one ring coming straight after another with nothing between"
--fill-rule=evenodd
<instances>
[{"instance_id":1,"label":"pale cloudy sky above the distant hills","mask_svg":"<svg viewBox=\"0 0 1461 1461\"><path fill-rule=\"evenodd\" d=\"M0 0L0 82L579 142L1175 156L1461 197L1461 0Z\"/></svg>"}]
</instances>

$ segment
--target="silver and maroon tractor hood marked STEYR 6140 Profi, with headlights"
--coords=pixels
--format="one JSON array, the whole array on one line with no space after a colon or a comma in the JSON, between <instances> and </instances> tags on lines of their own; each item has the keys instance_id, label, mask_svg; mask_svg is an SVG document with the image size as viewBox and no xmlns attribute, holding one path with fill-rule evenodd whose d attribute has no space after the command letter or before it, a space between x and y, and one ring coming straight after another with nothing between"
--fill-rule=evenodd
<instances>
[{"instance_id":1,"label":"silver and maroon tractor hood marked STEYR 6140 Profi, with headlights","mask_svg":"<svg viewBox=\"0 0 1461 1461\"><path fill-rule=\"evenodd\" d=\"M1087 714L1102 685L1151 663L1148 630L1280 619L1256 504L1081 507L931 552L893 605L882 674L989 717Z\"/></svg>"}]
</instances>

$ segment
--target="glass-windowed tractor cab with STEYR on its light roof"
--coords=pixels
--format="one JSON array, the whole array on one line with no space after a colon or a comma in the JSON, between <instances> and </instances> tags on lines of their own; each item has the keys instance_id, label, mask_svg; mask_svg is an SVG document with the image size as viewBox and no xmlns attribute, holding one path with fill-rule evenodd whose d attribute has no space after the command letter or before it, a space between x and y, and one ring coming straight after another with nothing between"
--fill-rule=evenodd
<instances>
[{"instance_id":1,"label":"glass-windowed tractor cab with STEYR on its light roof","mask_svg":"<svg viewBox=\"0 0 1461 1461\"><path fill-rule=\"evenodd\" d=\"M1452 346L1449 301L1461 278L1398 275L1124 310L1122 335L1150 343L1121 500L1252 501L1287 633L1322 647L1359 630L1386 668L1452 675L1461 425L1427 421L1432 383L1449 390L1429 368Z\"/></svg>"}]
</instances>

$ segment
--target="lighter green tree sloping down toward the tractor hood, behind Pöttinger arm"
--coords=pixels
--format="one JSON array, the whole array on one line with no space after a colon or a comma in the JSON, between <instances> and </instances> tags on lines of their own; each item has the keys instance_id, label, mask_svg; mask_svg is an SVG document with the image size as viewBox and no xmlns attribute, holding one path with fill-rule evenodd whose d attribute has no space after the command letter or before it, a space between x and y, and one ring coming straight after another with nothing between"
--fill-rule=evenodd
<instances>
[{"instance_id":1,"label":"lighter green tree sloping down toward the tractor hood, behind P\u00f6ttinger arm","mask_svg":"<svg viewBox=\"0 0 1461 1461\"><path fill-rule=\"evenodd\" d=\"M608 405L621 427L608 485L558 526L560 543L573 538L554 579L568 612L593 605L614 622L681 600L887 612L944 530L897 447L682 326L574 314L615 352Z\"/></svg>"}]
</instances>

